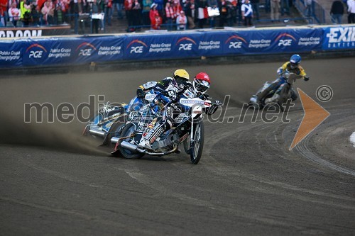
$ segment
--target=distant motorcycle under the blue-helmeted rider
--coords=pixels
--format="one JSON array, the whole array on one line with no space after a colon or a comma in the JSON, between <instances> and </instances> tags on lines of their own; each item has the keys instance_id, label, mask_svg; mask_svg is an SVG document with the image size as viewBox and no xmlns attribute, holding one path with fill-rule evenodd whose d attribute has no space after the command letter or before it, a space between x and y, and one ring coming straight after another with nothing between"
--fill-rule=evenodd
<instances>
[{"instance_id":1,"label":"distant motorcycle under the blue-helmeted rider","mask_svg":"<svg viewBox=\"0 0 355 236\"><path fill-rule=\"evenodd\" d=\"M300 79L303 77L292 72L285 72L285 74L283 74L283 77L286 79L286 82L284 84L281 84L276 89L271 89L271 91L269 91L268 94L264 97L263 101L258 104L258 96L261 94L261 92L263 92L273 83L265 82L261 89L258 89L258 91L256 91L256 94L251 96L249 105L258 106L258 108L263 108L263 106L267 106L271 103L277 103L280 107L280 110L284 111L283 103L286 103L289 99L291 99L292 101L295 101L297 99L296 91L295 89L293 89L293 83L296 79Z\"/></svg>"}]
</instances>

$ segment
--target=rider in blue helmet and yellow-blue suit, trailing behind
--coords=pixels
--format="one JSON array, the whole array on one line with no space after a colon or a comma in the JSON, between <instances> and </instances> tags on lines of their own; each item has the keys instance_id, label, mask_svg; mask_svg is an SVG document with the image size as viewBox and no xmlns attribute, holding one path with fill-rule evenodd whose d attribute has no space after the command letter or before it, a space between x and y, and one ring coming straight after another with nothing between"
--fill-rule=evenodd
<instances>
[{"instance_id":1,"label":"rider in blue helmet and yellow-blue suit, trailing behind","mask_svg":"<svg viewBox=\"0 0 355 236\"><path fill-rule=\"evenodd\" d=\"M261 94L258 95L258 98L256 100L257 103L263 103L265 97L271 90L276 90L279 86L281 86L281 84L285 84L287 82L287 79L285 78L285 73L294 73L300 75L304 78L305 81L308 81L310 77L307 76L305 69L303 69L303 67L300 65L300 62L300 55L295 54L290 57L289 62L285 62L282 67L278 68L277 73L280 75L280 77L276 79L270 86L268 86L268 88L262 91ZM295 99L297 99L297 95L293 94L293 100Z\"/></svg>"}]
</instances>

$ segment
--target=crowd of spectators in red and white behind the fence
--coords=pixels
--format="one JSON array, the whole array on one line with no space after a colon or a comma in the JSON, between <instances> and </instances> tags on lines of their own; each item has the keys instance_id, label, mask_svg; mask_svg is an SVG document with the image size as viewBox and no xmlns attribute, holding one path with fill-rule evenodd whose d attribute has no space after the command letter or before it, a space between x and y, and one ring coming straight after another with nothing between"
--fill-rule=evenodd
<instances>
[{"instance_id":1,"label":"crowd of spectators in red and white behind the fence","mask_svg":"<svg viewBox=\"0 0 355 236\"><path fill-rule=\"evenodd\" d=\"M346 1L355 6L355 0ZM304 2L312 4L312 0ZM119 20L126 18L129 31L252 26L252 19L259 20L260 4L271 14L271 20L278 21L280 13L288 13L290 3L291 0L0 0L0 26L72 23L102 13L102 18L92 17L93 31L98 33L105 23L111 26L114 12ZM306 15L310 14L308 9Z\"/></svg>"}]
</instances>

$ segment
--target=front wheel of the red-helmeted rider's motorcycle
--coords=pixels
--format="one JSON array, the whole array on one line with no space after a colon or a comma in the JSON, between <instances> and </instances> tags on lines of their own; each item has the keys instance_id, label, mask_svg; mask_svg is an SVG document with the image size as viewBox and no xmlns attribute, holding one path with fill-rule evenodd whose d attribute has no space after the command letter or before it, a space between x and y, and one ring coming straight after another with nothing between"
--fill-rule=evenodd
<instances>
[{"instance_id":1,"label":"front wheel of the red-helmeted rider's motorcycle","mask_svg":"<svg viewBox=\"0 0 355 236\"><path fill-rule=\"evenodd\" d=\"M190 142L190 159L192 164L200 162L204 143L204 125L202 120L194 125L193 140Z\"/></svg>"}]
</instances>

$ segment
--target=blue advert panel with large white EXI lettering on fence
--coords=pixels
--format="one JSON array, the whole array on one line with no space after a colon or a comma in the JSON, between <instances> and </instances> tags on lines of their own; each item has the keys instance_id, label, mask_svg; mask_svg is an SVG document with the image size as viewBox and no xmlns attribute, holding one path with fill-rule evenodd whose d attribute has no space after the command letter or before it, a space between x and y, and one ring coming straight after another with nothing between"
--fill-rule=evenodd
<instances>
[{"instance_id":1,"label":"blue advert panel with large white EXI lettering on fence","mask_svg":"<svg viewBox=\"0 0 355 236\"><path fill-rule=\"evenodd\" d=\"M324 28L323 50L355 49L355 26Z\"/></svg>"}]
</instances>

